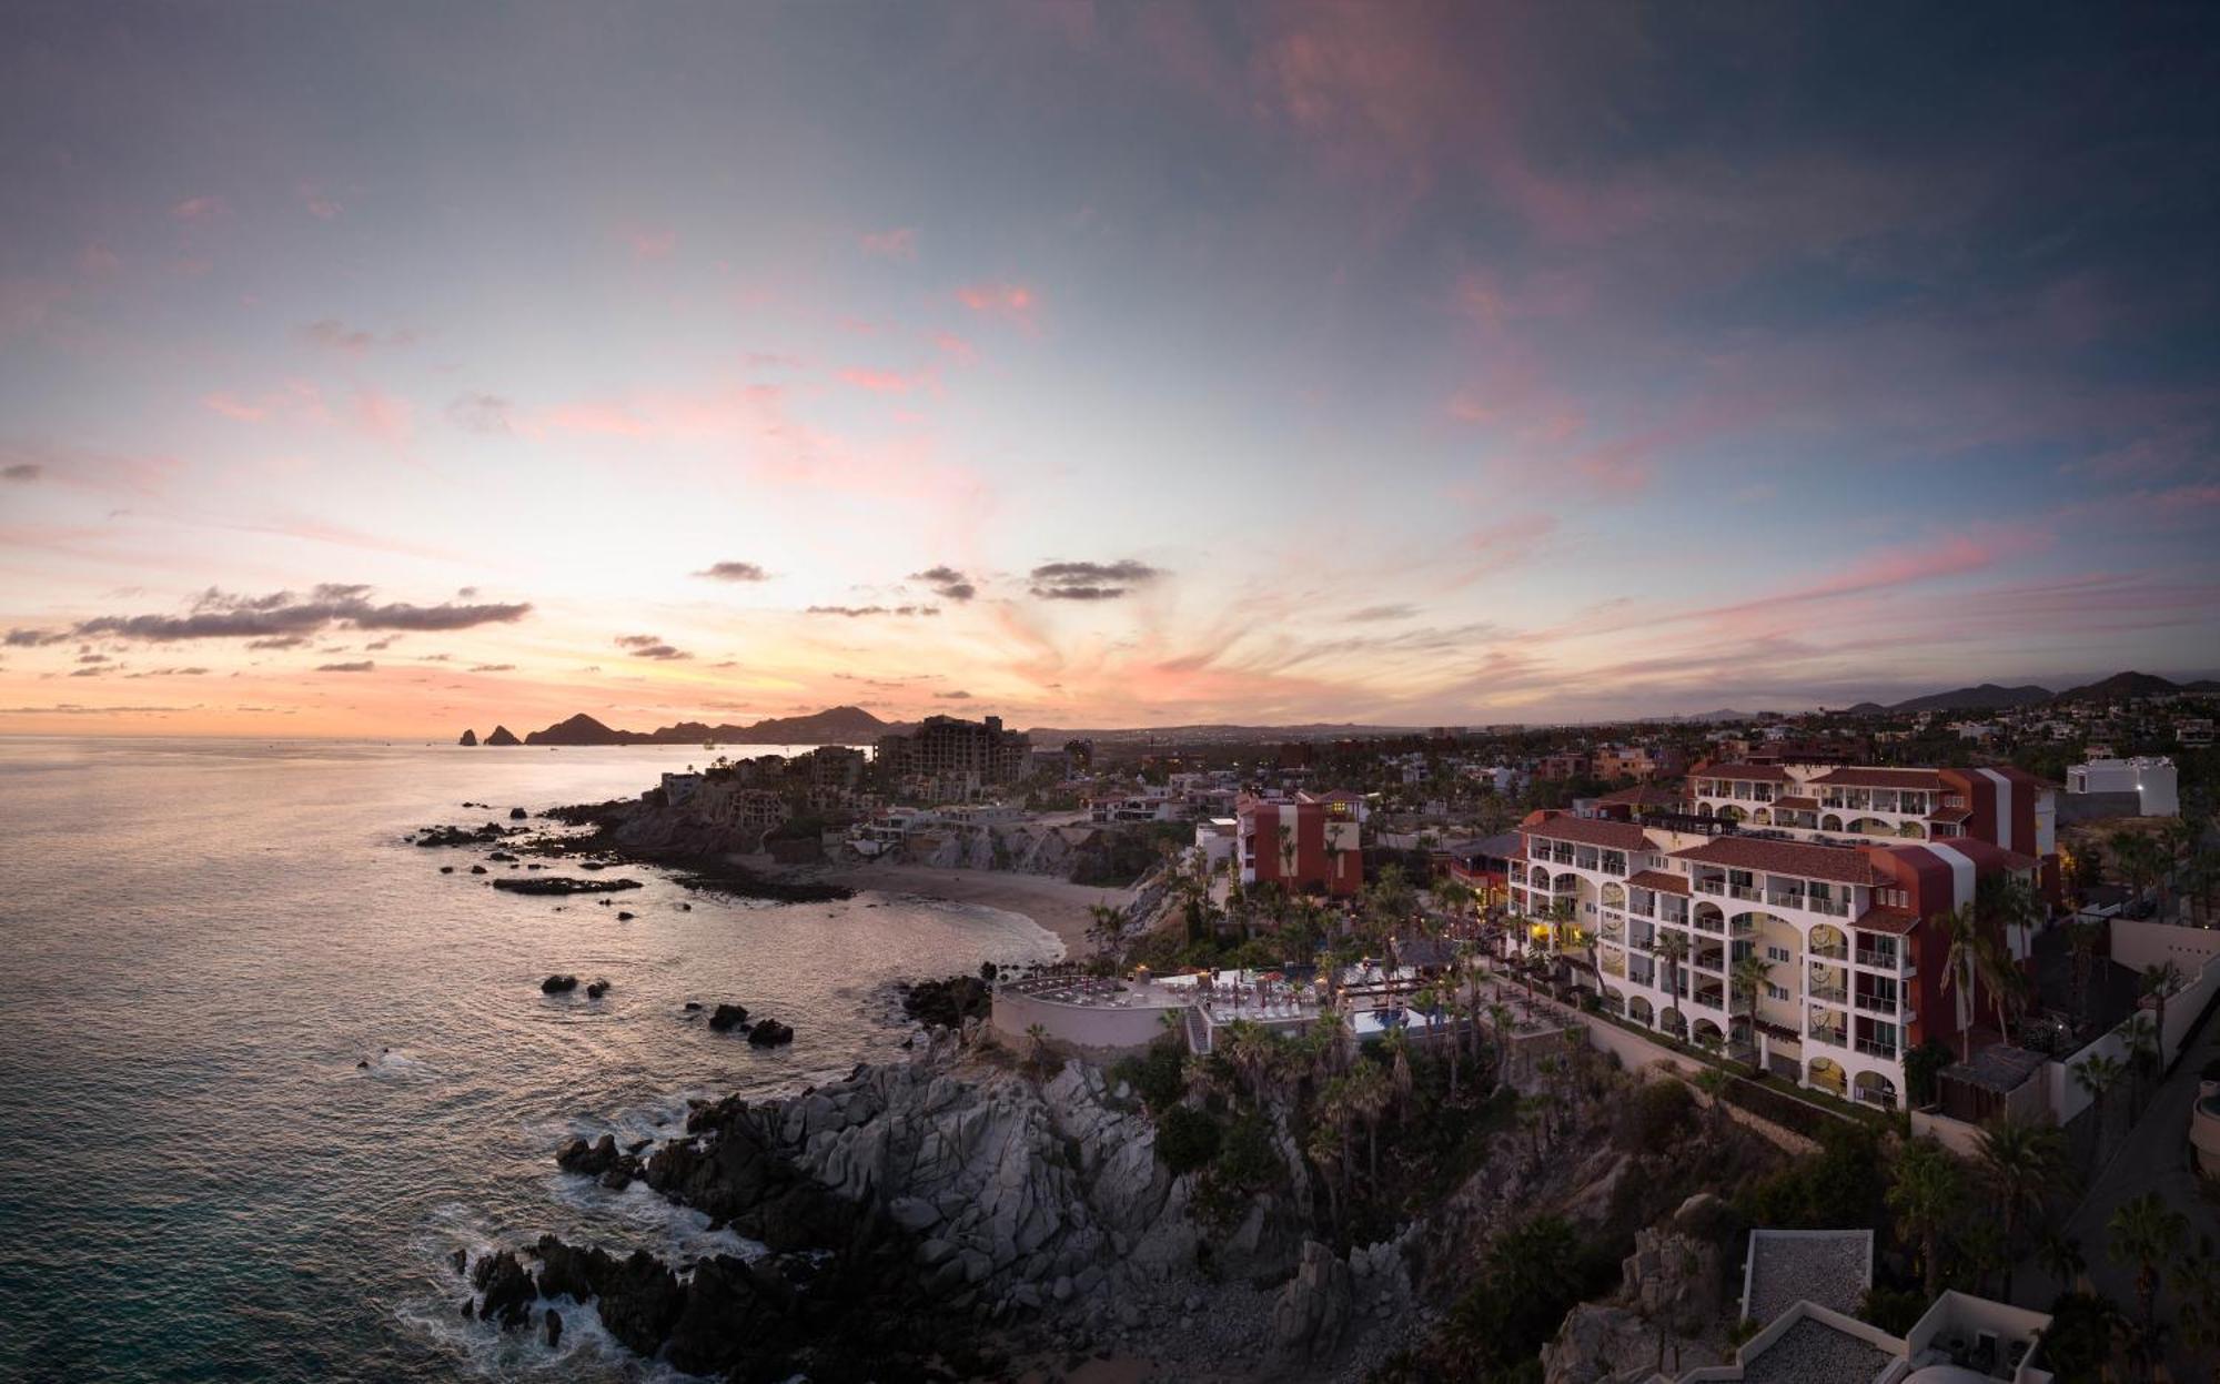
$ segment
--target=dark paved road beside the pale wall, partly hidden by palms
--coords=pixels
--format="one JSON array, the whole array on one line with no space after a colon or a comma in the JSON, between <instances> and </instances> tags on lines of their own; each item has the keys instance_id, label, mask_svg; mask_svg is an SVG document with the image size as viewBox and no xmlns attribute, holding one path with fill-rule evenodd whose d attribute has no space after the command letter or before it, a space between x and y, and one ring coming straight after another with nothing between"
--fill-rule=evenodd
<instances>
[{"instance_id":1,"label":"dark paved road beside the pale wall, partly hidden by palms","mask_svg":"<svg viewBox=\"0 0 2220 1384\"><path fill-rule=\"evenodd\" d=\"M2089 1260L2089 1280L2129 1313L2136 1311L2136 1269L2111 1260L2105 1235L2105 1222L2111 1220L2120 1202L2156 1191L2189 1218L2184 1251L2196 1253L2200 1235L2220 1242L2220 1209L2207 1200L2198 1173L2189 1167L2189 1109L2198 1100L2198 1071L2213 1056L2220 1056L2220 1025L2207 1018L2204 1027L2189 1038L2187 1051L2151 1098L2142 1120L2129 1131L2111 1162L2096 1176L2089 1195L2067 1220L2067 1235L2080 1242L2082 1255ZM2060 1284L2054 1284L2036 1264L2022 1264L2014 1278L2014 1300L2020 1306L2042 1311L2060 1291ZM2160 1286L2158 1311L2169 1320L2173 1315L2173 1300L2164 1286ZM2176 1380L2196 1380L2204 1373L2196 1357L2182 1349L2180 1337L2173 1342L2171 1364Z\"/></svg>"}]
</instances>

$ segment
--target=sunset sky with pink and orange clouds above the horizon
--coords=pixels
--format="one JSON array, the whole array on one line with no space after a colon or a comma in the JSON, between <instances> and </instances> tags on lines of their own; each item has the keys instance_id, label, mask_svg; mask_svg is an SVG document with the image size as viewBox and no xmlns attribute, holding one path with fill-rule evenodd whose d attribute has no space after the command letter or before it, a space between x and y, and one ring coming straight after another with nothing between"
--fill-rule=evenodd
<instances>
[{"instance_id":1,"label":"sunset sky with pink and orange clouds above the horizon","mask_svg":"<svg viewBox=\"0 0 2220 1384\"><path fill-rule=\"evenodd\" d=\"M2216 16L9 4L0 732L2207 674Z\"/></svg>"}]
</instances>

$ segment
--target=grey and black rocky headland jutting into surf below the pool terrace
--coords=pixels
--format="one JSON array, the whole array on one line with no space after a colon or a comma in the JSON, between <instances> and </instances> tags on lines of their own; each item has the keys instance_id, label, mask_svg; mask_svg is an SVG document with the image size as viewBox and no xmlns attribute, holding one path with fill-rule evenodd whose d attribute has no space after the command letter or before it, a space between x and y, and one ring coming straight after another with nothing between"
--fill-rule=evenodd
<instances>
[{"instance_id":1,"label":"grey and black rocky headland jutting into surf below the pool terrace","mask_svg":"<svg viewBox=\"0 0 2220 1384\"><path fill-rule=\"evenodd\" d=\"M593 1302L630 1349L733 1380L963 1380L1112 1353L1296 1366L1410 1300L1401 1246L1336 1258L1272 1198L1208 1231L1154 1140L1094 1067L1043 1080L928 1029L908 1062L695 1102L662 1147L604 1136L557 1156L610 1189L644 1180L761 1258L666 1264L542 1238L471 1266L502 1286L480 1284L471 1311L522 1329L548 1302Z\"/></svg>"}]
</instances>

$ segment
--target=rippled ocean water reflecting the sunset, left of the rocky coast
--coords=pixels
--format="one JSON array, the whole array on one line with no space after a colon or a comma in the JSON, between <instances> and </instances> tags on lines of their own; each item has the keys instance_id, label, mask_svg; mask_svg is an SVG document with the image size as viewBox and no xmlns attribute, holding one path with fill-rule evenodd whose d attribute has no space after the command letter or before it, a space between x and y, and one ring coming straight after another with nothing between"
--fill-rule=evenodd
<instances>
[{"instance_id":1,"label":"rippled ocean water reflecting the sunset, left of the rocky coast","mask_svg":"<svg viewBox=\"0 0 2220 1384\"><path fill-rule=\"evenodd\" d=\"M555 1149L844 1076L906 1036L888 983L1061 952L997 909L737 903L644 869L610 907L519 898L466 874L477 852L402 841L699 759L0 739L0 1380L668 1373L591 1311L553 1351L462 1320L446 1258L542 1231L746 1249ZM548 971L613 989L548 998ZM750 1049L686 1000L797 1040Z\"/></svg>"}]
</instances>

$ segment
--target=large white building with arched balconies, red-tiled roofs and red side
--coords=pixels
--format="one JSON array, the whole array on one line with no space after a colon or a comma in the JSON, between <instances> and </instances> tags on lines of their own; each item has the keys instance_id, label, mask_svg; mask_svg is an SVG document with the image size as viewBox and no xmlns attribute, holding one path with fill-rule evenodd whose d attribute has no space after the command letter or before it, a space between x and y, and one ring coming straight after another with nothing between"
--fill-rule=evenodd
<instances>
[{"instance_id":1,"label":"large white building with arched balconies, red-tiled roofs and red side","mask_svg":"<svg viewBox=\"0 0 2220 1384\"><path fill-rule=\"evenodd\" d=\"M1516 954L1554 956L1638 1025L1885 1107L1905 1102L1905 1054L1985 1003L1943 994L1943 918L1980 878L2038 872L1987 841L1825 845L1718 818L1538 812L1518 834ZM2031 943L2025 927L2007 936L2016 960ZM1756 996L1736 985L1752 956Z\"/></svg>"}]
</instances>

